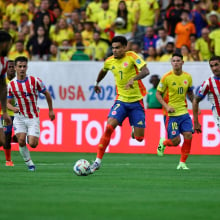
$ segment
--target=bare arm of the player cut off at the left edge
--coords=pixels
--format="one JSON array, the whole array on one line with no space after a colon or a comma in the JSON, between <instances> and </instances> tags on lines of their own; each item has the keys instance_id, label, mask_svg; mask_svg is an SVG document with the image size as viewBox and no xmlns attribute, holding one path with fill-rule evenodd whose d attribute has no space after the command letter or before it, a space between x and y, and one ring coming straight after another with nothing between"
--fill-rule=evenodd
<instances>
[{"instance_id":1,"label":"bare arm of the player cut off at the left edge","mask_svg":"<svg viewBox=\"0 0 220 220\"><path fill-rule=\"evenodd\" d=\"M1 101L1 108L2 108L2 117L6 124L11 124L11 118L7 114L7 84L6 80L3 77L0 77L0 101Z\"/></svg>"}]
</instances>

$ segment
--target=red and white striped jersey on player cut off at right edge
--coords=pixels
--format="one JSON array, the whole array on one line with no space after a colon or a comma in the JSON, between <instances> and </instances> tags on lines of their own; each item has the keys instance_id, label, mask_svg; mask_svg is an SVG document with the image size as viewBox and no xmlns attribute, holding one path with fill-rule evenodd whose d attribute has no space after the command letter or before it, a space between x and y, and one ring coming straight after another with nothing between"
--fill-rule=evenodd
<instances>
[{"instance_id":1,"label":"red and white striped jersey on player cut off at right edge","mask_svg":"<svg viewBox=\"0 0 220 220\"><path fill-rule=\"evenodd\" d=\"M198 96L204 98L208 95L208 100L212 104L212 108L215 107L218 116L220 116L220 78L211 76L200 86L197 93Z\"/></svg>"}]
</instances>

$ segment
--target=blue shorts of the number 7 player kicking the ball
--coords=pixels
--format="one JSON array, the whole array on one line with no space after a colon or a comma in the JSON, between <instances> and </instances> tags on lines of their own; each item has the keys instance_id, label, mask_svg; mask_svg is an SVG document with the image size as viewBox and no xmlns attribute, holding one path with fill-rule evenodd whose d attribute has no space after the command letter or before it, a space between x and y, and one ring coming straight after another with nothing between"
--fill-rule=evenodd
<instances>
[{"instance_id":1,"label":"blue shorts of the number 7 player kicking the ball","mask_svg":"<svg viewBox=\"0 0 220 220\"><path fill-rule=\"evenodd\" d=\"M143 100L132 103L116 100L108 117L117 119L120 125L122 125L125 118L128 117L131 126L145 128Z\"/></svg>"}]
</instances>

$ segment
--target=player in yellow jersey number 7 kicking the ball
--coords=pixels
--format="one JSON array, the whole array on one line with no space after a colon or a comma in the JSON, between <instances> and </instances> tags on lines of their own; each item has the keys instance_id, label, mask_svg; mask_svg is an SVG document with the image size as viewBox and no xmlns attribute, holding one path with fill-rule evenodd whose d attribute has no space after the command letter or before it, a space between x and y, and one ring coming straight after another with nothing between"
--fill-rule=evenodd
<instances>
[{"instance_id":1,"label":"player in yellow jersey number 7 kicking the ball","mask_svg":"<svg viewBox=\"0 0 220 220\"><path fill-rule=\"evenodd\" d=\"M127 51L127 40L123 36L112 39L113 56L107 58L100 70L94 90L101 92L100 81L110 70L116 83L116 101L108 115L107 126L100 139L95 162L90 166L90 173L94 173L100 165L111 135L118 125L122 125L125 118L129 118L132 126L132 137L143 141L145 130L145 112L143 97L146 89L141 81L149 75L144 60L133 51Z\"/></svg>"}]
</instances>

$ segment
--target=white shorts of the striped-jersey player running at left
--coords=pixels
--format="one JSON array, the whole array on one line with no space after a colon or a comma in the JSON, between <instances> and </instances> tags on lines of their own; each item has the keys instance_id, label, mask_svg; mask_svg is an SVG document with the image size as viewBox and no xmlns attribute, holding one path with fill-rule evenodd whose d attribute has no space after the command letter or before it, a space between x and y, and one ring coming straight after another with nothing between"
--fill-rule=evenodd
<instances>
[{"instance_id":1,"label":"white shorts of the striped-jersey player running at left","mask_svg":"<svg viewBox=\"0 0 220 220\"><path fill-rule=\"evenodd\" d=\"M14 132L26 133L27 136L40 137L40 119L39 118L27 118L24 117L21 113L15 114L14 117Z\"/></svg>"}]
</instances>

